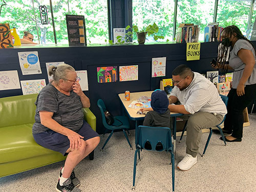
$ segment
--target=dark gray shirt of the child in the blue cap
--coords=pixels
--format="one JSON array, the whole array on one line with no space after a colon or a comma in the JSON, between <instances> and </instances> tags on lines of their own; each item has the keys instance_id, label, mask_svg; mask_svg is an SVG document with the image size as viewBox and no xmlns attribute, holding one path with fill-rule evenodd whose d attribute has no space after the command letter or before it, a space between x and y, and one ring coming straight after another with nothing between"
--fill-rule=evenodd
<instances>
[{"instance_id":1,"label":"dark gray shirt of the child in the blue cap","mask_svg":"<svg viewBox=\"0 0 256 192\"><path fill-rule=\"evenodd\" d=\"M170 111L166 110L163 114L155 111L147 112L143 121L144 126L170 127L172 128L172 121L170 121Z\"/></svg>"}]
</instances>

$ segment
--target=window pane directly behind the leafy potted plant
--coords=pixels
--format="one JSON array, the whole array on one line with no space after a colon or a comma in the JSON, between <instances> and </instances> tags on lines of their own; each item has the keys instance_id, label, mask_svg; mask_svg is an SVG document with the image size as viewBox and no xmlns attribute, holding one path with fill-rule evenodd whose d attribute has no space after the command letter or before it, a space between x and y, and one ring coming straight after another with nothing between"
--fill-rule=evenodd
<instances>
[{"instance_id":1,"label":"window pane directly behind the leafy potted plant","mask_svg":"<svg viewBox=\"0 0 256 192\"><path fill-rule=\"evenodd\" d=\"M133 0L133 25L142 31L154 22L159 27L156 35L164 36L164 41L173 39L174 1ZM154 38L147 37L146 41L154 41Z\"/></svg>"}]
</instances>

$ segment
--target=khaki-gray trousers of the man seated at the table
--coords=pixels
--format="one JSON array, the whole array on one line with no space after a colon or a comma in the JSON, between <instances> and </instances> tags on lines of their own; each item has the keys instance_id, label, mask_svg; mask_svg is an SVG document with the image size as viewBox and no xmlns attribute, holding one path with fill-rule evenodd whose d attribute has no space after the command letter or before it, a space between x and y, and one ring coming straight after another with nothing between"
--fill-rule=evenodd
<instances>
[{"instance_id":1,"label":"khaki-gray trousers of the man seated at the table","mask_svg":"<svg viewBox=\"0 0 256 192\"><path fill-rule=\"evenodd\" d=\"M183 115L180 118L188 119L186 130L186 153L196 157L202 137L202 129L207 129L218 125L221 123L224 117L219 114L214 115L207 112L197 112L193 115Z\"/></svg>"}]
</instances>

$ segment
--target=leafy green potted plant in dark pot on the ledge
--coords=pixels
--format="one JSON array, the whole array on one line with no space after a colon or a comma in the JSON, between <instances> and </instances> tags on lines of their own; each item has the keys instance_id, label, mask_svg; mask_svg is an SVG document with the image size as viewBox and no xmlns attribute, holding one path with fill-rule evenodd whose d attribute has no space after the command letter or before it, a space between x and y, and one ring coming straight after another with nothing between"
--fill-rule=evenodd
<instances>
[{"instance_id":1,"label":"leafy green potted plant in dark pot on the ledge","mask_svg":"<svg viewBox=\"0 0 256 192\"><path fill-rule=\"evenodd\" d=\"M127 34L126 39L133 38L134 35L136 34L139 44L144 44L144 42L146 40L146 35L147 36L153 36L154 40L164 39L163 36L156 35L156 33L159 30L156 23L154 23L153 25L148 25L145 30L141 30L141 31L139 31L139 29L136 25L134 25L133 27L131 27L129 25L125 29L129 30L126 33ZM167 39L167 41L168 41L168 39Z\"/></svg>"}]
</instances>

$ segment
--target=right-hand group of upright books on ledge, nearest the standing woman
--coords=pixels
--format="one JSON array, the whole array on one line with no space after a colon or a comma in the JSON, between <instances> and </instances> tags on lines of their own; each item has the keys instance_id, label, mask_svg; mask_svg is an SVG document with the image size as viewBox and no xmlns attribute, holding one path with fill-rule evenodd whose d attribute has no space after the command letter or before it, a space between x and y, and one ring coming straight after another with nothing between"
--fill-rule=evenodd
<instances>
[{"instance_id":1,"label":"right-hand group of upright books on ledge, nearest the standing woman","mask_svg":"<svg viewBox=\"0 0 256 192\"><path fill-rule=\"evenodd\" d=\"M221 32L223 27L219 23L210 23L204 28L204 42L221 41Z\"/></svg>"}]
</instances>

